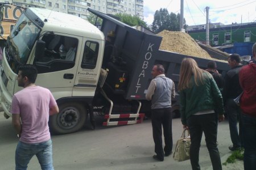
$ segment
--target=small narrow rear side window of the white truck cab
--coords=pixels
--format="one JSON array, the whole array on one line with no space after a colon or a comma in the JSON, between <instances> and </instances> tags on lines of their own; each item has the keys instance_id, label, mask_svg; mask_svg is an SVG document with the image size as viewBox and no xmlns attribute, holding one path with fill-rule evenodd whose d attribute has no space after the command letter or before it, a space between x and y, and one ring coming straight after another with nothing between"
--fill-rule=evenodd
<instances>
[{"instance_id":1,"label":"small narrow rear side window of the white truck cab","mask_svg":"<svg viewBox=\"0 0 256 170\"><path fill-rule=\"evenodd\" d=\"M98 42L86 41L82 56L82 69L94 69L98 58Z\"/></svg>"}]
</instances>

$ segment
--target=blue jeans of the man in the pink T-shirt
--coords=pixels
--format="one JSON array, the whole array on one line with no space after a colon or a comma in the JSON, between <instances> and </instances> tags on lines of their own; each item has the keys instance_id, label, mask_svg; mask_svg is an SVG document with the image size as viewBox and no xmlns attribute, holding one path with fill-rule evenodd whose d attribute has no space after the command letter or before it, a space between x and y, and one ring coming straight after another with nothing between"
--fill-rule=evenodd
<instances>
[{"instance_id":1,"label":"blue jeans of the man in the pink T-shirt","mask_svg":"<svg viewBox=\"0 0 256 170\"><path fill-rule=\"evenodd\" d=\"M53 170L51 139L46 142L32 144L19 141L15 152L15 169L27 169L27 164L34 155L38 158L43 170Z\"/></svg>"}]
</instances>

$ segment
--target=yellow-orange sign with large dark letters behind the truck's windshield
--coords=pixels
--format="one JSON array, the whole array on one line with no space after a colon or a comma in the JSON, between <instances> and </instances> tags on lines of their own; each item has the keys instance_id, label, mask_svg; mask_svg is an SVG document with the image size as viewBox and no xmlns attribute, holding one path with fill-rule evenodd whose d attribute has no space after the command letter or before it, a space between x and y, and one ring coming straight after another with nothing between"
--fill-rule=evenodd
<instances>
[{"instance_id":1,"label":"yellow-orange sign with large dark letters behind the truck's windshield","mask_svg":"<svg viewBox=\"0 0 256 170\"><path fill-rule=\"evenodd\" d=\"M7 39L7 36L10 35L11 30L22 13L23 8L5 4L3 9L3 20L2 24L0 25L0 33L3 39ZM2 37L0 37L0 39L2 39Z\"/></svg>"}]
</instances>

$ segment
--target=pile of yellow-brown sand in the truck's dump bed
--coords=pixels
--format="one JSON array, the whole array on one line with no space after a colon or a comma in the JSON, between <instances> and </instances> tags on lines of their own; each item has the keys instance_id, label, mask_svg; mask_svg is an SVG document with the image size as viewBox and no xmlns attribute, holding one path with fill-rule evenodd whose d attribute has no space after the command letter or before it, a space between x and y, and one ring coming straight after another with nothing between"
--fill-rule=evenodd
<instances>
[{"instance_id":1,"label":"pile of yellow-brown sand in the truck's dump bed","mask_svg":"<svg viewBox=\"0 0 256 170\"><path fill-rule=\"evenodd\" d=\"M158 33L158 36L163 37L160 45L161 50L168 50L170 52L180 53L187 56L214 59L210 57L210 55L202 49L197 42L188 35L188 33L164 30Z\"/></svg>"}]
</instances>

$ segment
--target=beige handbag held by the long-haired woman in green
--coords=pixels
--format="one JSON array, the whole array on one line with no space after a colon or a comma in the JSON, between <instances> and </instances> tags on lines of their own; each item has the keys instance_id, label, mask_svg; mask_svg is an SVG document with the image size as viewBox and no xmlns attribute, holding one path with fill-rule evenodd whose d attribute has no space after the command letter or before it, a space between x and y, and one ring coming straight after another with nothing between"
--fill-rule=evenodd
<instances>
[{"instance_id":1,"label":"beige handbag held by the long-haired woman in green","mask_svg":"<svg viewBox=\"0 0 256 170\"><path fill-rule=\"evenodd\" d=\"M188 132L187 137L185 136L185 131ZM190 158L189 157L190 145L191 145L191 139L190 139L189 130L184 129L180 139L177 140L176 142L176 147L174 151L174 160L177 160L178 162L188 160Z\"/></svg>"}]
</instances>

